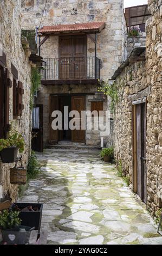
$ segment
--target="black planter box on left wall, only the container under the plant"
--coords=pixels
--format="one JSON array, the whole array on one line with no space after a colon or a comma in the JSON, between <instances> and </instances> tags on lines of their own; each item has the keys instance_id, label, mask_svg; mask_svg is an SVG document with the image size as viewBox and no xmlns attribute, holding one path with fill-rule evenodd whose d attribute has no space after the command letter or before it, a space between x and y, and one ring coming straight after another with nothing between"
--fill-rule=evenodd
<instances>
[{"instance_id":1,"label":"black planter box on left wall, only the container under the plant","mask_svg":"<svg viewBox=\"0 0 162 256\"><path fill-rule=\"evenodd\" d=\"M3 149L0 154L1 154L1 160L3 163L14 163L16 161L18 153L18 148L16 147L10 147Z\"/></svg>"}]
</instances>

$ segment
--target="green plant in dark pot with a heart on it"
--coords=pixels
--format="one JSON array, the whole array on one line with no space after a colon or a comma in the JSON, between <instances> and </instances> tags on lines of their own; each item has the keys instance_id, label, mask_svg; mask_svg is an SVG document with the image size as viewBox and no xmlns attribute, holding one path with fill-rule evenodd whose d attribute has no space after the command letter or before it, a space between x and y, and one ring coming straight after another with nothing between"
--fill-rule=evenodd
<instances>
[{"instance_id":1,"label":"green plant in dark pot with a heart on it","mask_svg":"<svg viewBox=\"0 0 162 256\"><path fill-rule=\"evenodd\" d=\"M20 212L3 210L0 214L0 229L3 242L9 244L24 245L28 242L30 227L20 225L21 219L18 217Z\"/></svg>"}]
</instances>

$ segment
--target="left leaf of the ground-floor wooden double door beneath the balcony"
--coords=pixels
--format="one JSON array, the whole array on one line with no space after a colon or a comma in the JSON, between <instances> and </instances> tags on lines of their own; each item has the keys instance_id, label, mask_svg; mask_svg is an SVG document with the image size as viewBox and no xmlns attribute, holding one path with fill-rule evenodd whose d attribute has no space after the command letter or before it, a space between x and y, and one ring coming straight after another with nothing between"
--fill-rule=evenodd
<instances>
[{"instance_id":1,"label":"left leaf of the ground-floor wooden double door beneath the balcony","mask_svg":"<svg viewBox=\"0 0 162 256\"><path fill-rule=\"evenodd\" d=\"M59 110L59 99L58 96L50 95L49 99L49 143L56 144L59 141L59 130L52 129L52 121L54 120L51 117L53 111Z\"/></svg>"}]
</instances>

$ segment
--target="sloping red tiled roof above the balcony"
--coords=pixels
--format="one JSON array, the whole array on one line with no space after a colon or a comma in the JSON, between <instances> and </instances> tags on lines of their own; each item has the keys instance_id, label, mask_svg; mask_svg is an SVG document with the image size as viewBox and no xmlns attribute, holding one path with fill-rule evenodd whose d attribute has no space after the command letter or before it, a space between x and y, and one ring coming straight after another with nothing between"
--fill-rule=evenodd
<instances>
[{"instance_id":1,"label":"sloping red tiled roof above the balcony","mask_svg":"<svg viewBox=\"0 0 162 256\"><path fill-rule=\"evenodd\" d=\"M44 26L39 29L40 34L59 34L60 32L101 32L105 28L105 22L87 22L68 25Z\"/></svg>"}]
</instances>

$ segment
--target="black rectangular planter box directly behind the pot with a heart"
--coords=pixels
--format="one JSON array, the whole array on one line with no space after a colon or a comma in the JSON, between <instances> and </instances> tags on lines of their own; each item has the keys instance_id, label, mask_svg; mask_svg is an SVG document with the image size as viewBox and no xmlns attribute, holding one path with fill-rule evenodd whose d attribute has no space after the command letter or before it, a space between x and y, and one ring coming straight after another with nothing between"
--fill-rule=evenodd
<instances>
[{"instance_id":1,"label":"black rectangular planter box directly behind the pot with a heart","mask_svg":"<svg viewBox=\"0 0 162 256\"><path fill-rule=\"evenodd\" d=\"M32 208L39 209L39 211L27 211L27 212L21 211L18 217L20 217L22 220L21 225L25 225L31 228L35 227L35 229L38 230L38 234L40 234L43 204L34 204L34 203L14 203L14 204L16 204L18 208L21 210L29 205L31 205Z\"/></svg>"}]
</instances>

